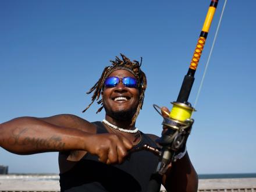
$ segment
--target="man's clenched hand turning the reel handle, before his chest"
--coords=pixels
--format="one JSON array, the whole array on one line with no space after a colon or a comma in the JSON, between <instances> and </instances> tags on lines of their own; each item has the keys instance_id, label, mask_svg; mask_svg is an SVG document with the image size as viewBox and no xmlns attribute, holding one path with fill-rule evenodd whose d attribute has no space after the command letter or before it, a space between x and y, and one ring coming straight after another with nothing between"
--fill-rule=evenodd
<instances>
[{"instance_id":1,"label":"man's clenched hand turning the reel handle, before his chest","mask_svg":"<svg viewBox=\"0 0 256 192\"><path fill-rule=\"evenodd\" d=\"M131 141L120 134L92 134L88 139L86 151L97 155L100 162L106 164L122 163L127 150L133 147Z\"/></svg>"}]
</instances>

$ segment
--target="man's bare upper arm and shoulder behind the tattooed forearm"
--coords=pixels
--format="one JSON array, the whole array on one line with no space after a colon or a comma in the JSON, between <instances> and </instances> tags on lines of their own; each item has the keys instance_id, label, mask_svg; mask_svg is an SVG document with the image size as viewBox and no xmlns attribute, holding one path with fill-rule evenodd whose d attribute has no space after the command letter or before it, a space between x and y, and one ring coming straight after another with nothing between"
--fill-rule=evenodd
<instances>
[{"instance_id":1,"label":"man's bare upper arm and shoulder behind the tattooed forearm","mask_svg":"<svg viewBox=\"0 0 256 192\"><path fill-rule=\"evenodd\" d=\"M54 115L47 118L38 119L56 126L84 130L88 131L89 133L95 133L96 131L96 127L93 123L72 114Z\"/></svg>"}]
</instances>

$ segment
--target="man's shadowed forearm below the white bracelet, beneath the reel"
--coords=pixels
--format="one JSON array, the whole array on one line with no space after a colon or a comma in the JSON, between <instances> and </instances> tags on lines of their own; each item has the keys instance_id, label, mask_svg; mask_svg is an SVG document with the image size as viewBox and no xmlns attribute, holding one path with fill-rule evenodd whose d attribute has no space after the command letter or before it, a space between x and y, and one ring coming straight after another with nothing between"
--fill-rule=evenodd
<instances>
[{"instance_id":1,"label":"man's shadowed forearm below the white bracelet, beneath the reel","mask_svg":"<svg viewBox=\"0 0 256 192\"><path fill-rule=\"evenodd\" d=\"M168 191L197 191L198 177L188 154L172 163L168 177L164 177L163 182Z\"/></svg>"}]
</instances>

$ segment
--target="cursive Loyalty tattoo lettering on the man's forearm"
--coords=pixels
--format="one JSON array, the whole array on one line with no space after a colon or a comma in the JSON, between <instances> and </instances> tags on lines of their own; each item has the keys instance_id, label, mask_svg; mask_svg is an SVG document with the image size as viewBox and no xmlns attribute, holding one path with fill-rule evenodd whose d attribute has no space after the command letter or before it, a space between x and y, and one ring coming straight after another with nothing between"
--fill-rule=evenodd
<instances>
[{"instance_id":1,"label":"cursive Loyalty tattoo lettering on the man's forearm","mask_svg":"<svg viewBox=\"0 0 256 192\"><path fill-rule=\"evenodd\" d=\"M20 146L32 146L36 150L64 150L65 143L59 136L51 136L49 138L38 138L38 137L21 137L26 133L28 129L15 129L12 132L12 136L9 137L8 144L20 145Z\"/></svg>"}]
</instances>

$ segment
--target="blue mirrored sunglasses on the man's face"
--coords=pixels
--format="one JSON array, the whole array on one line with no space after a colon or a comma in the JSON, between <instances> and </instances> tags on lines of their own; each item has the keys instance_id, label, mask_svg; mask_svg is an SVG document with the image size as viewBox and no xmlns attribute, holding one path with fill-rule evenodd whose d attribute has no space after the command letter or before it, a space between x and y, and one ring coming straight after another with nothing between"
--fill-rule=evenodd
<instances>
[{"instance_id":1,"label":"blue mirrored sunglasses on the man's face","mask_svg":"<svg viewBox=\"0 0 256 192\"><path fill-rule=\"evenodd\" d=\"M116 87L118 83L122 80L122 83L125 87L136 88L137 87L137 80L133 77L108 77L105 80L106 87Z\"/></svg>"}]
</instances>

